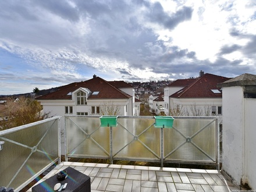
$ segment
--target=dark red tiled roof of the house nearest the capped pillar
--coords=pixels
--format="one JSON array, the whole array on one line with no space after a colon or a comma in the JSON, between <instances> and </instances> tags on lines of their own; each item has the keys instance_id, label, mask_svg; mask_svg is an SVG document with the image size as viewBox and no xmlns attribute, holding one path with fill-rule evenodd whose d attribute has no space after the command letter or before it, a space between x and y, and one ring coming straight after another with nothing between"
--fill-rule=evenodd
<instances>
[{"instance_id":1,"label":"dark red tiled roof of the house nearest the capped pillar","mask_svg":"<svg viewBox=\"0 0 256 192\"><path fill-rule=\"evenodd\" d=\"M221 98L222 93L214 93L212 90L219 90L217 88L218 83L229 80L230 78L216 76L215 74L205 73L203 76L197 79L191 79L190 84L184 87L182 90L170 95L174 98ZM187 81L188 82L188 81ZM173 82L175 83L175 82Z\"/></svg>"}]
</instances>

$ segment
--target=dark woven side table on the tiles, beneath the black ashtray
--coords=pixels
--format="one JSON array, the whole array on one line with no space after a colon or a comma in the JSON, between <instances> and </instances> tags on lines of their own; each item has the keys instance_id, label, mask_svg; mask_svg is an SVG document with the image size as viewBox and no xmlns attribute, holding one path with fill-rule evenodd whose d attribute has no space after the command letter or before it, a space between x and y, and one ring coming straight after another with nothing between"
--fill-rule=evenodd
<instances>
[{"instance_id":1,"label":"dark woven side table on the tiles, beneath the black ashtray","mask_svg":"<svg viewBox=\"0 0 256 192\"><path fill-rule=\"evenodd\" d=\"M32 192L51 192L54 191L54 186L57 183L65 184L67 187L63 192L84 192L91 191L91 178L70 166L65 169L67 171L67 178L63 181L59 181L57 176L54 175L49 179L45 180L32 187Z\"/></svg>"}]
</instances>

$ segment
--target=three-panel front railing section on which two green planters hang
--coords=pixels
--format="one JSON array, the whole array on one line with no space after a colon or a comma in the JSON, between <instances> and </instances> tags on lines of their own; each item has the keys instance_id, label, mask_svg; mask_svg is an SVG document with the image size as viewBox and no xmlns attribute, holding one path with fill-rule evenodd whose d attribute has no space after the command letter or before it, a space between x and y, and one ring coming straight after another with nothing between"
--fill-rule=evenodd
<instances>
[{"instance_id":1,"label":"three-panel front railing section on which two green planters hang","mask_svg":"<svg viewBox=\"0 0 256 192\"><path fill-rule=\"evenodd\" d=\"M154 116L118 116L101 127L99 116L65 116L66 161L99 158L163 163L197 163L219 169L218 117L177 116L173 128L155 128Z\"/></svg>"}]
</instances>

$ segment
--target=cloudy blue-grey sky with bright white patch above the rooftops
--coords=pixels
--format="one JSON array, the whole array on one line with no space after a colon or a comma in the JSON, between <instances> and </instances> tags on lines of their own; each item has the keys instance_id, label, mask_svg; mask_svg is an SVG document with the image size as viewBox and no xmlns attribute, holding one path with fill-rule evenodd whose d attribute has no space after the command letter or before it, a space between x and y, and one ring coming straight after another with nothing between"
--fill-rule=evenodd
<instances>
[{"instance_id":1,"label":"cloudy blue-grey sky with bright white patch above the rooftops","mask_svg":"<svg viewBox=\"0 0 256 192\"><path fill-rule=\"evenodd\" d=\"M0 1L0 95L256 74L255 0Z\"/></svg>"}]
</instances>

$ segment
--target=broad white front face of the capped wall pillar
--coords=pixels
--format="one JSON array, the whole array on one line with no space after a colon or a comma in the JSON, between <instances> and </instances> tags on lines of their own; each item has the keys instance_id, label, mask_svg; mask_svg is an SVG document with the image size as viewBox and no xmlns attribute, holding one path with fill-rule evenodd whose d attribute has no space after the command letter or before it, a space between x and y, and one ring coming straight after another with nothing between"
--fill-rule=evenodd
<instances>
[{"instance_id":1,"label":"broad white front face of the capped wall pillar","mask_svg":"<svg viewBox=\"0 0 256 192\"><path fill-rule=\"evenodd\" d=\"M244 98L242 87L222 90L222 169L240 184L244 166Z\"/></svg>"}]
</instances>

